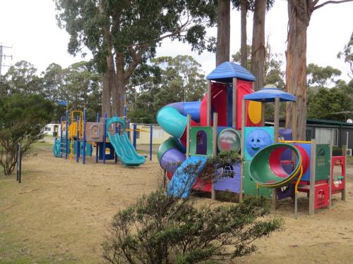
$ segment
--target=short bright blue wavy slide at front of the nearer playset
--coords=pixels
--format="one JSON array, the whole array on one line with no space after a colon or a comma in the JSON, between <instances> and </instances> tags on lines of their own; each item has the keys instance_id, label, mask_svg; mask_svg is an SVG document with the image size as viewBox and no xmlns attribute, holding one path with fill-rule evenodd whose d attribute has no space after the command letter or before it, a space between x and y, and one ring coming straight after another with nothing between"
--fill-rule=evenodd
<instances>
[{"instance_id":1,"label":"short bright blue wavy slide at front of the nearer playset","mask_svg":"<svg viewBox=\"0 0 353 264\"><path fill-rule=\"evenodd\" d=\"M172 180L168 185L167 194L176 198L188 198L198 174L201 170L203 170L203 168L205 168L207 159L207 157L199 156L191 156L186 158L186 160L181 163L179 168L174 173ZM198 169L195 174L191 174L191 171L186 170L188 165L198 165Z\"/></svg>"}]
</instances>

